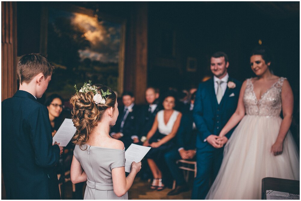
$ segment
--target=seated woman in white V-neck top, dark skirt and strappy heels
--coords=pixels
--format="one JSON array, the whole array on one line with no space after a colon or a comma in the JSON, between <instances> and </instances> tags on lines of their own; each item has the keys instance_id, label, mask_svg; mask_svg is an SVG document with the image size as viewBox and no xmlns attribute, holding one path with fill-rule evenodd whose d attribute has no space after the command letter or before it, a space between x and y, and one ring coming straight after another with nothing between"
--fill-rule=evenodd
<instances>
[{"instance_id":1,"label":"seated woman in white V-neck top, dark skirt and strappy heels","mask_svg":"<svg viewBox=\"0 0 301 201\"><path fill-rule=\"evenodd\" d=\"M143 146L150 146L151 150L147 153L147 163L151 168L154 176L151 185L152 190L163 190L162 172L157 166L155 160L163 156L164 152L171 149L173 146L172 138L178 131L182 113L174 110L175 96L166 95L163 101L164 110L160 110L154 120L151 130L147 133L147 140Z\"/></svg>"}]
</instances>

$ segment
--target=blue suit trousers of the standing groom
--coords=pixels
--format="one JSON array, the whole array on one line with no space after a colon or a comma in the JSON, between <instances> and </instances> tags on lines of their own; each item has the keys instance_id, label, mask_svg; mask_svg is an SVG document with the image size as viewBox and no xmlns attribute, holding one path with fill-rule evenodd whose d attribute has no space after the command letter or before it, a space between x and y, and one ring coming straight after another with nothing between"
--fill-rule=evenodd
<instances>
[{"instance_id":1,"label":"blue suit trousers of the standing groom","mask_svg":"<svg viewBox=\"0 0 301 201\"><path fill-rule=\"evenodd\" d=\"M222 164L224 148L204 152L197 149L197 177L194 178L191 199L205 199Z\"/></svg>"}]
</instances>

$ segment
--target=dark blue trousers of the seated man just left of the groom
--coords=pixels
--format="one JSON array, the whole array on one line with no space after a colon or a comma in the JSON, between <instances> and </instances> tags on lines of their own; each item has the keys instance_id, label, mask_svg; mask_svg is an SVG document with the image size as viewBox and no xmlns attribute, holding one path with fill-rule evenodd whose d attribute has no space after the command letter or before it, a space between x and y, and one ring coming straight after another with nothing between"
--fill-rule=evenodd
<instances>
[{"instance_id":1,"label":"dark blue trousers of the seated man just left of the groom","mask_svg":"<svg viewBox=\"0 0 301 201\"><path fill-rule=\"evenodd\" d=\"M178 149L176 148L176 149L172 149L169 152L166 152L164 155L164 158L165 158L167 167L169 168L173 179L175 179L175 181L176 181L176 184L178 186L184 185L186 182L184 179L183 170L179 169L178 165L176 164L177 160L182 159L178 152Z\"/></svg>"}]
</instances>

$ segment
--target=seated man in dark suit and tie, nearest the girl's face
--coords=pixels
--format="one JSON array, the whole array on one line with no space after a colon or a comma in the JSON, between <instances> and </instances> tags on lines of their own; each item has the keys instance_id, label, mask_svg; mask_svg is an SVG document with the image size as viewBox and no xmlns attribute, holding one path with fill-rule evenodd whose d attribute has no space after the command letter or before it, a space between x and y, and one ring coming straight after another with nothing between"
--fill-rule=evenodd
<instances>
[{"instance_id":1,"label":"seated man in dark suit and tie, nearest the girl's face","mask_svg":"<svg viewBox=\"0 0 301 201\"><path fill-rule=\"evenodd\" d=\"M122 95L124 106L118 107L119 116L116 124L111 128L110 136L121 140L127 149L132 143L139 143L138 139L138 115L139 109L134 104L135 98L132 92L126 91ZM134 141L135 139L135 141Z\"/></svg>"}]
</instances>

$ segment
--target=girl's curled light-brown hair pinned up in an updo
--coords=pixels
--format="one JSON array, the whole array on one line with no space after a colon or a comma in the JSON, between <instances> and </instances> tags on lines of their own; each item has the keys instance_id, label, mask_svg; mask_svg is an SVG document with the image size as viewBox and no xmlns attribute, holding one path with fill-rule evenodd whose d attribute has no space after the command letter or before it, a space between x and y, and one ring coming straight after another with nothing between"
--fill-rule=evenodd
<instances>
[{"instance_id":1,"label":"girl's curled light-brown hair pinned up in an updo","mask_svg":"<svg viewBox=\"0 0 301 201\"><path fill-rule=\"evenodd\" d=\"M101 94L101 89L103 91L109 89L111 92L110 95L106 95L105 104L95 104L93 101L94 93L92 91L86 93L78 92L78 94L70 98L70 104L73 106L73 110L71 111L72 121L76 127L76 133L72 140L74 144L79 144L80 146L88 141L89 134L97 125L97 122L102 119L106 109L115 107L115 92L105 85L95 84L95 86L97 87L98 94Z\"/></svg>"}]
</instances>

